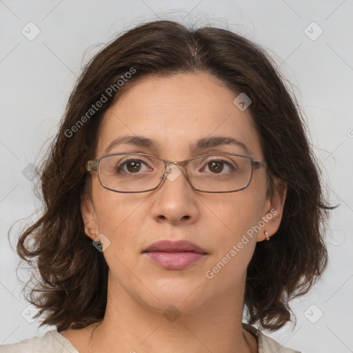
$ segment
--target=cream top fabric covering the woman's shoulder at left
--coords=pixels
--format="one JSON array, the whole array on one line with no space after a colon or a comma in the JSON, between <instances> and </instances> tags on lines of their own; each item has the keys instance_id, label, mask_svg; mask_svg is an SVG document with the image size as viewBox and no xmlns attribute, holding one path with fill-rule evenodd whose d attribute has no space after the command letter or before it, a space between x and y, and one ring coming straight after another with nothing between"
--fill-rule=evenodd
<instances>
[{"instance_id":1,"label":"cream top fabric covering the woman's shoulder at left","mask_svg":"<svg viewBox=\"0 0 353 353\"><path fill-rule=\"evenodd\" d=\"M59 332L52 330L43 337L33 337L10 345L0 345L0 353L79 353Z\"/></svg>"}]
</instances>

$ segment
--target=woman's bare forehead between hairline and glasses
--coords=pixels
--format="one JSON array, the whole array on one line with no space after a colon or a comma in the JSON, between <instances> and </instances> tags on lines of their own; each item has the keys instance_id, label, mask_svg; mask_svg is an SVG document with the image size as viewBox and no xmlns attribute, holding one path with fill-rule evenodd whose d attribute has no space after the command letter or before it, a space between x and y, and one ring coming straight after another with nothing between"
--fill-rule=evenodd
<instances>
[{"instance_id":1,"label":"woman's bare forehead between hairline and glasses","mask_svg":"<svg viewBox=\"0 0 353 353\"><path fill-rule=\"evenodd\" d=\"M192 149L196 151L197 146L211 148L212 143L206 139L216 137L221 142L219 138L224 137L240 143L229 143L234 153L261 157L259 135L250 109L241 111L233 103L238 94L216 77L201 72L138 79L105 112L97 155L104 154L109 147L109 152L114 152L114 141L136 142L138 139L124 137L139 137L154 142L145 143L144 147L141 144L139 147L144 148L141 152L182 159ZM241 149L241 143L248 151Z\"/></svg>"}]
</instances>

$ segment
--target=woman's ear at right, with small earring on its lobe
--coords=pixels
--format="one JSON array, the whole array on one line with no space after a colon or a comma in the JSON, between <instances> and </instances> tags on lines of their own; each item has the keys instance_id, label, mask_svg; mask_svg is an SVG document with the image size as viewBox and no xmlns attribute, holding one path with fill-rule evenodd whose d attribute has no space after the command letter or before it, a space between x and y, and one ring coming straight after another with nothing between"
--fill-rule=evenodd
<instances>
[{"instance_id":1,"label":"woman's ear at right, with small earring on its lobe","mask_svg":"<svg viewBox=\"0 0 353 353\"><path fill-rule=\"evenodd\" d=\"M287 196L287 183L284 181L274 181L274 192L265 201L263 208L261 230L257 233L257 241L264 241L266 239L265 232L268 237L271 237L279 229L281 219L283 216L283 207L285 204L285 196Z\"/></svg>"}]
</instances>

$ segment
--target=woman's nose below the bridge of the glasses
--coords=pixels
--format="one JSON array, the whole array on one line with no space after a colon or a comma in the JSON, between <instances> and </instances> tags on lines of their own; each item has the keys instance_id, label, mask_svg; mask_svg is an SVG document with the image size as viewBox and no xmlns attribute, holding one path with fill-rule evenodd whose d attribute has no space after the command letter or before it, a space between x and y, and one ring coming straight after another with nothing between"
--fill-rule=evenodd
<instances>
[{"instance_id":1,"label":"woman's nose below the bridge of the glasses","mask_svg":"<svg viewBox=\"0 0 353 353\"><path fill-rule=\"evenodd\" d=\"M194 223L199 217L195 190L185 178L182 168L169 165L165 177L154 190L151 213L155 221Z\"/></svg>"}]
</instances>

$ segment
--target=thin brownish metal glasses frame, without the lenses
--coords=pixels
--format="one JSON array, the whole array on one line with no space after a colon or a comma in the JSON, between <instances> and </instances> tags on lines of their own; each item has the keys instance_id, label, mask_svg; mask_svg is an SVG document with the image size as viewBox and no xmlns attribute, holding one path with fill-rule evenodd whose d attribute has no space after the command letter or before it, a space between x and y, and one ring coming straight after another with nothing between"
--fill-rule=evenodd
<instances>
[{"instance_id":1,"label":"thin brownish metal glasses frame, without the lenses","mask_svg":"<svg viewBox=\"0 0 353 353\"><path fill-rule=\"evenodd\" d=\"M143 190L143 191L123 191L123 190L115 190L112 188L109 188L106 185L103 185L102 181L101 181L101 177L99 176L99 162L104 159L105 157L109 157L109 156L118 156L121 154L138 154L141 156L148 156L148 157L154 157L157 158L161 161L164 162L165 168L163 170L163 174L160 177L160 181L158 183L158 185L155 188L152 189L148 189L148 190ZM230 190L230 191L205 191L205 190L201 190L198 188L194 188L194 186L192 185L189 176L188 176L188 163L196 158L200 158L200 157L208 157L208 156L237 156L237 157L244 157L246 159L248 159L250 161L250 180L248 182L247 185L243 186L243 188L240 189L236 189L236 190ZM236 154L236 153L211 153L211 154L201 154L201 156L196 156L196 157L192 157L190 159L185 159L185 161L170 161L169 159L163 159L161 157L157 157L154 154L148 154L148 153L142 153L142 152L119 152L119 153L111 153L111 154L103 154L103 156L95 159L94 161L88 161L85 165L85 169L88 172L97 172L98 175L98 179L99 179L99 183L101 183L101 185L103 186L103 188L113 191L113 192L121 192L123 194L136 194L136 193L140 193L140 192L150 192L153 190L156 190L159 185L161 185L161 183L163 183L164 179L165 179L165 175L167 174L166 171L168 170L168 168L170 167L170 165L179 165L183 168L185 168L185 179L186 181L188 181L189 185L196 191L200 191L200 192L209 192L212 194L220 194L220 193L227 193L227 192L237 192L237 191L241 191L244 190L245 188L248 188L248 186L250 185L251 181L252 181L252 173L254 171L254 169L261 169L261 168L266 168L268 167L268 163L265 161L254 161L254 159L252 157L249 156L245 156L244 154Z\"/></svg>"}]
</instances>

